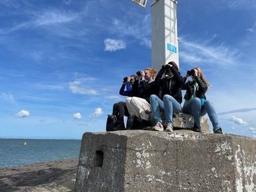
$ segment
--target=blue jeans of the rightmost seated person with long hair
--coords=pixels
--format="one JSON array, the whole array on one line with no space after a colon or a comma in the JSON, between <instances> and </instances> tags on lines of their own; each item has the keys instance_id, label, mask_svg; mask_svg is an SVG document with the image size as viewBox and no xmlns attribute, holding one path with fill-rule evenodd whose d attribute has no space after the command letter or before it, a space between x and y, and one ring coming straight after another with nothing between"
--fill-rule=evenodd
<instances>
[{"instance_id":1,"label":"blue jeans of the rightmost seated person with long hair","mask_svg":"<svg viewBox=\"0 0 256 192\"><path fill-rule=\"evenodd\" d=\"M204 104L201 105L201 101L198 97L194 97L188 104L183 106L183 112L188 113L194 117L194 123L196 126L201 128L200 126L200 117L208 114L210 121L212 122L213 131L216 131L220 128L219 120L217 114L212 106L212 104L205 100Z\"/></svg>"}]
</instances>

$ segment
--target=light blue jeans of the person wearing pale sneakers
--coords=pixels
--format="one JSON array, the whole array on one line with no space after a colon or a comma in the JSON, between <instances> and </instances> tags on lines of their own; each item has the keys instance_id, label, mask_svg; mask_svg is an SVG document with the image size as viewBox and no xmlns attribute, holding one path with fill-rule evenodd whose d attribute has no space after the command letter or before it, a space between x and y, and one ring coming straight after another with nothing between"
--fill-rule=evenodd
<instances>
[{"instance_id":1,"label":"light blue jeans of the person wearing pale sneakers","mask_svg":"<svg viewBox=\"0 0 256 192\"><path fill-rule=\"evenodd\" d=\"M163 101L156 95L151 95L149 100L156 123L162 123L160 111L165 111L166 123L172 124L172 114L179 113L182 109L181 104L171 95L164 95Z\"/></svg>"}]
</instances>

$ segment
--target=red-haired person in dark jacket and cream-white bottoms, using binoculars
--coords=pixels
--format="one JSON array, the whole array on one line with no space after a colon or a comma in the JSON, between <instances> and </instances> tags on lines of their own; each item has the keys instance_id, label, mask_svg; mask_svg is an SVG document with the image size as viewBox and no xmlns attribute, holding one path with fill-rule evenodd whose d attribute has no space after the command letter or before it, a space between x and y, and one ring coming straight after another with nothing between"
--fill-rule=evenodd
<instances>
[{"instance_id":1,"label":"red-haired person in dark jacket and cream-white bottoms, using binoculars","mask_svg":"<svg viewBox=\"0 0 256 192\"><path fill-rule=\"evenodd\" d=\"M156 70L153 68L146 68L145 71L140 71L138 80L137 97L127 97L126 104L129 114L135 117L136 122L141 122L139 128L149 126L149 113L151 108L149 104L149 97L152 94L156 94L158 88L154 84L156 76ZM137 128L137 127L135 127Z\"/></svg>"}]
</instances>

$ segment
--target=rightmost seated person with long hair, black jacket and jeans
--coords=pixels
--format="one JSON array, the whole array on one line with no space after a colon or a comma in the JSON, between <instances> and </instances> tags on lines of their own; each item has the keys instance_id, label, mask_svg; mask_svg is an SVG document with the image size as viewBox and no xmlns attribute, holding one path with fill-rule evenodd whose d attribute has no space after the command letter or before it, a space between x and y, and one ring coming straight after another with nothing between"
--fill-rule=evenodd
<instances>
[{"instance_id":1,"label":"rightmost seated person with long hair, black jacket and jeans","mask_svg":"<svg viewBox=\"0 0 256 192\"><path fill-rule=\"evenodd\" d=\"M185 82L188 77L192 77L192 81ZM187 91L184 96L185 102L182 111L194 117L193 131L201 132L200 117L208 113L212 122L213 132L222 134L214 107L205 97L205 92L209 86L201 68L196 67L188 70L187 75L184 77L183 89Z\"/></svg>"}]
</instances>

